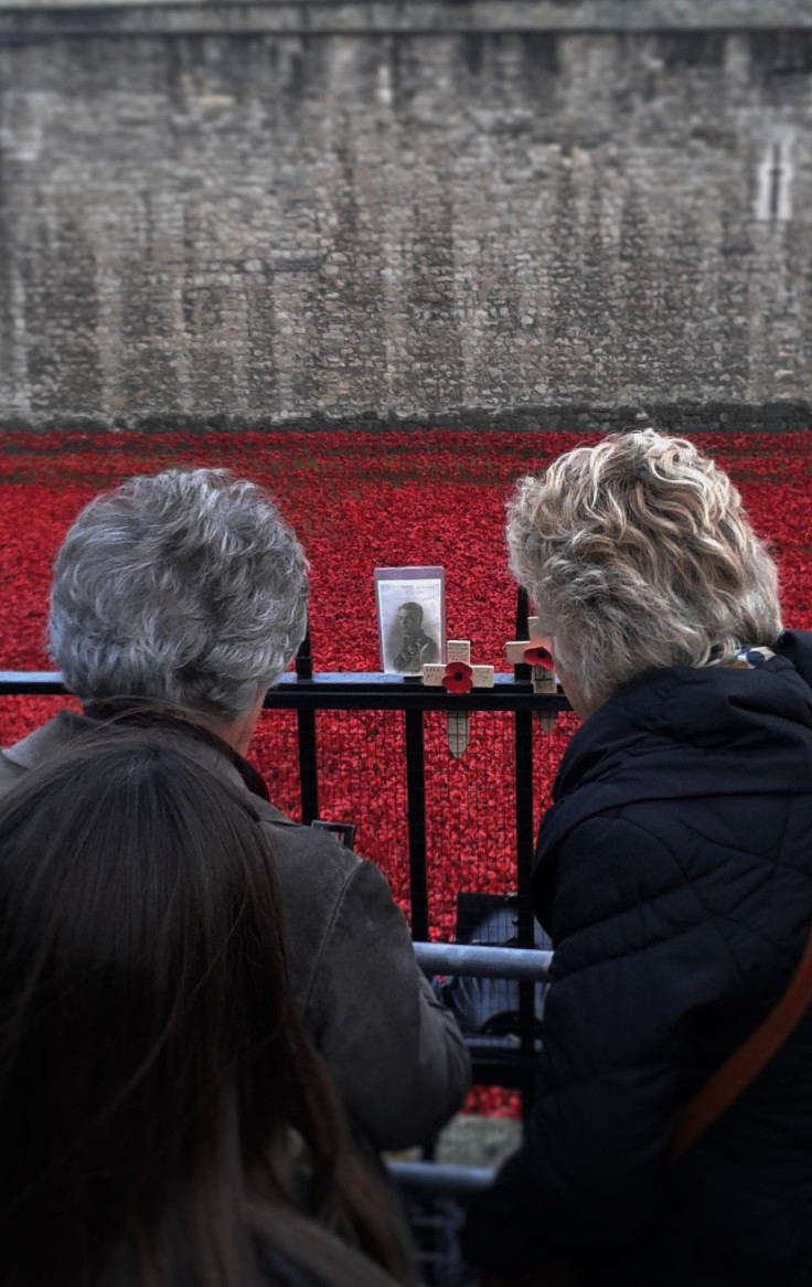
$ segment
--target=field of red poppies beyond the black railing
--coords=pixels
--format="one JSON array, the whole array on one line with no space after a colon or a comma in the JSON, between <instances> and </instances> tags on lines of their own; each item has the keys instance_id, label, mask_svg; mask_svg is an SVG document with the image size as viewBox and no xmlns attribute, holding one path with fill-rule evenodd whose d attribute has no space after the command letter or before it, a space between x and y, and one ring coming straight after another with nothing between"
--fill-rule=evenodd
<instances>
[{"instance_id":1,"label":"field of red poppies beyond the black railing","mask_svg":"<svg viewBox=\"0 0 812 1287\"><path fill-rule=\"evenodd\" d=\"M49 668L50 562L81 506L130 474L198 463L225 465L266 485L299 532L313 569L317 669L378 669L372 573L408 564L445 568L449 636L472 641L472 660L507 669L503 645L513 634L516 592L504 566L504 501L516 477L577 441L588 439L440 431L8 435L0 462L0 669ZM788 624L812 624L812 435L701 444L732 474L775 547ZM59 704L0 700L0 741L22 736ZM515 885L512 726L510 716L472 716L470 748L457 761L444 716L426 723L431 929L450 937L459 889ZM562 716L552 736L538 730L539 816L575 726L574 716ZM318 735L322 816L355 822L356 848L386 871L408 911L401 717L328 713ZM277 803L296 816L292 713L264 714L254 755Z\"/></svg>"}]
</instances>

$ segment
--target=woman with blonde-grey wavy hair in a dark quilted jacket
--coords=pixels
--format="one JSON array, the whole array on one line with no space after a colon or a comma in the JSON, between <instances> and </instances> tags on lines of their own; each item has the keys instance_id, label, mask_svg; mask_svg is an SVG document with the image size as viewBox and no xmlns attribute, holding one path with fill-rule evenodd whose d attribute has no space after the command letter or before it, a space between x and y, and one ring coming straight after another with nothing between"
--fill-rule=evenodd
<instances>
[{"instance_id":1,"label":"woman with blonde-grey wavy hair in a dark quilted jacket","mask_svg":"<svg viewBox=\"0 0 812 1287\"><path fill-rule=\"evenodd\" d=\"M539 1093L463 1251L492 1283L808 1287L807 996L732 1067L808 960L811 637L782 631L772 559L688 441L578 448L508 514L584 722L533 875Z\"/></svg>"}]
</instances>

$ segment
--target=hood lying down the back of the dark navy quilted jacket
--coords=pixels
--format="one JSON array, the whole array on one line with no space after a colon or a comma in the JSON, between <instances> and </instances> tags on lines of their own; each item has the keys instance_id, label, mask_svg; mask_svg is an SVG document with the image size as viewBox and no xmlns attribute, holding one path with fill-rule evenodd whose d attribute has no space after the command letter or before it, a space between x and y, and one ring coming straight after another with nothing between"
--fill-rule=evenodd
<instances>
[{"instance_id":1,"label":"hood lying down the back of the dark navy quilted jacket","mask_svg":"<svg viewBox=\"0 0 812 1287\"><path fill-rule=\"evenodd\" d=\"M776 656L757 669L651 671L598 707L570 739L539 829L531 879L542 924L549 925L561 846L589 817L641 801L721 792L808 794L806 674L812 680L812 634L786 632Z\"/></svg>"}]
</instances>

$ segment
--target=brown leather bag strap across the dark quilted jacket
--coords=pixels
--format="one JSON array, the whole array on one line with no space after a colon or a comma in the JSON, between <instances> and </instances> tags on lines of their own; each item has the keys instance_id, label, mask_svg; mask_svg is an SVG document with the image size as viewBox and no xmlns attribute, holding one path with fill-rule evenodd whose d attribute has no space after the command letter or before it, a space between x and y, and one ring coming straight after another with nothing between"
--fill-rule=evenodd
<instances>
[{"instance_id":1,"label":"brown leather bag strap across the dark quilted jacket","mask_svg":"<svg viewBox=\"0 0 812 1287\"><path fill-rule=\"evenodd\" d=\"M719 1117L726 1108L750 1085L766 1063L786 1041L812 1003L812 928L807 938L804 954L793 974L791 982L767 1018L753 1032L744 1045L732 1053L730 1059L714 1072L688 1100L670 1142L670 1158L678 1157L696 1143L699 1136Z\"/></svg>"}]
</instances>

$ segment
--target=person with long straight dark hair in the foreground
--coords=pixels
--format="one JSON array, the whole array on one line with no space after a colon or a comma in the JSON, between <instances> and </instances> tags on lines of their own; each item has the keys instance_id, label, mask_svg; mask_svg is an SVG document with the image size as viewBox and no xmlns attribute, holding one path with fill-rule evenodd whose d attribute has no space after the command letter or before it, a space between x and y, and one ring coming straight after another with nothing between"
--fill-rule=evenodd
<instances>
[{"instance_id":1,"label":"person with long straight dark hair in the foreground","mask_svg":"<svg viewBox=\"0 0 812 1287\"><path fill-rule=\"evenodd\" d=\"M0 801L0 1277L408 1284L288 986L265 829L187 746L76 739Z\"/></svg>"}]
</instances>

